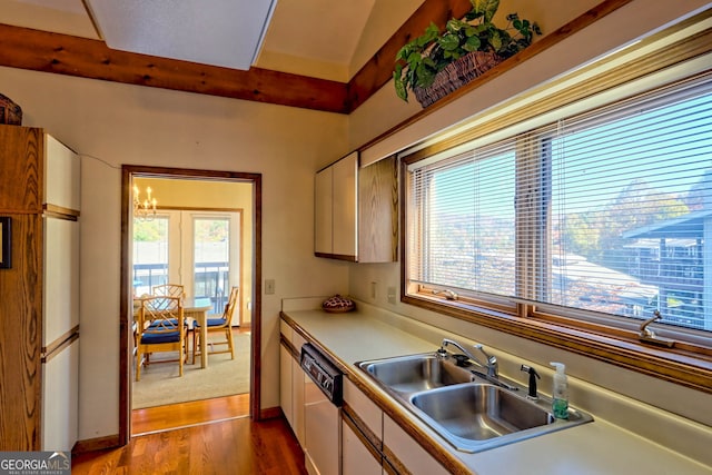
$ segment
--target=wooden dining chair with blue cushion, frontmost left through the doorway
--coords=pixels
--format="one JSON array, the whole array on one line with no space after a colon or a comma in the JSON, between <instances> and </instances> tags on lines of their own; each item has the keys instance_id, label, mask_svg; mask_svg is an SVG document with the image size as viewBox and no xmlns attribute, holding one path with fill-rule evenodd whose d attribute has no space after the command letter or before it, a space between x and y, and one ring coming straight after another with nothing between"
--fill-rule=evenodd
<instances>
[{"instance_id":1,"label":"wooden dining chair with blue cushion, frontmost left through the doorway","mask_svg":"<svg viewBox=\"0 0 712 475\"><path fill-rule=\"evenodd\" d=\"M149 365L148 355L159 352L178 352L178 358L170 362L178 362L178 373L182 376L187 342L182 299L170 296L141 299L136 324L136 380L141 379L141 366Z\"/></svg>"}]
</instances>

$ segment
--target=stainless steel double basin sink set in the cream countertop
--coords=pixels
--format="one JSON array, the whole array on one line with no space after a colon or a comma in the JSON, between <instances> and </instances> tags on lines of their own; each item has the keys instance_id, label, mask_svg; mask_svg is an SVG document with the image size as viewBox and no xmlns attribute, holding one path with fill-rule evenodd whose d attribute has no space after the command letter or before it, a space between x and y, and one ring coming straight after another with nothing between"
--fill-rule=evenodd
<instances>
[{"instance_id":1,"label":"stainless steel double basin sink set in the cream countertop","mask_svg":"<svg viewBox=\"0 0 712 475\"><path fill-rule=\"evenodd\" d=\"M452 355L427 353L356 366L462 452L482 452L593 420L571 407L567 419L556 419L550 398L532 400L527 388L487 377L478 366L458 366Z\"/></svg>"}]
</instances>

